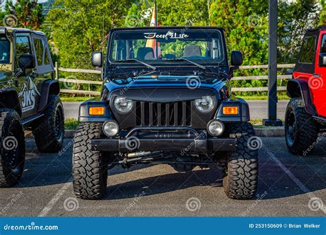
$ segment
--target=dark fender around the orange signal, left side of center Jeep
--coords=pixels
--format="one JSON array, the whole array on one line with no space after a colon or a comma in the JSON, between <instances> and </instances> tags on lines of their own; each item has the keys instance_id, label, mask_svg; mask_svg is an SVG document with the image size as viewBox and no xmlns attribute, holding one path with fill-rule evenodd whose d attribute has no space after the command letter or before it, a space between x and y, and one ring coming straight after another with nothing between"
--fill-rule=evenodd
<instances>
[{"instance_id":1,"label":"dark fender around the orange signal, left side of center Jeep","mask_svg":"<svg viewBox=\"0 0 326 235\"><path fill-rule=\"evenodd\" d=\"M104 115L89 115L90 107L104 107L105 114ZM105 101L94 101L87 100L80 104L79 107L79 122L106 122L107 120L112 120L113 115L109 110L109 103Z\"/></svg>"}]
</instances>

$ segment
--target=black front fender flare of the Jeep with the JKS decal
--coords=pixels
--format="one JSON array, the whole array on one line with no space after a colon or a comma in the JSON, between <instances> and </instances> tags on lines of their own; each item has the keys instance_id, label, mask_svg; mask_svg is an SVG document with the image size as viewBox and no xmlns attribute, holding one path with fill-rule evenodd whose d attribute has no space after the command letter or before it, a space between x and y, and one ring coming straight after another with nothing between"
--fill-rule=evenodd
<instances>
[{"instance_id":1,"label":"black front fender flare of the Jeep with the JKS decal","mask_svg":"<svg viewBox=\"0 0 326 235\"><path fill-rule=\"evenodd\" d=\"M19 103L18 93L15 89L0 90L0 107L14 109L21 116L21 104Z\"/></svg>"}]
</instances>

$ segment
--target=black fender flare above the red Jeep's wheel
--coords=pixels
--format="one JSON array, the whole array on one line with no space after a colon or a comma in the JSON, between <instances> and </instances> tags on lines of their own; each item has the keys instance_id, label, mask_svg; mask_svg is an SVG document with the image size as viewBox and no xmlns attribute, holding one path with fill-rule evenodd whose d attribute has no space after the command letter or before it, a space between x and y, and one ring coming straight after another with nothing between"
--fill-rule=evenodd
<instances>
[{"instance_id":1,"label":"black fender flare above the red Jeep's wheel","mask_svg":"<svg viewBox=\"0 0 326 235\"><path fill-rule=\"evenodd\" d=\"M302 98L303 104L305 104L305 111L311 115L317 115L316 108L314 107L314 103L312 102L312 96L310 93L309 85L306 80L288 80L286 93L287 96L289 96L290 98Z\"/></svg>"}]
</instances>

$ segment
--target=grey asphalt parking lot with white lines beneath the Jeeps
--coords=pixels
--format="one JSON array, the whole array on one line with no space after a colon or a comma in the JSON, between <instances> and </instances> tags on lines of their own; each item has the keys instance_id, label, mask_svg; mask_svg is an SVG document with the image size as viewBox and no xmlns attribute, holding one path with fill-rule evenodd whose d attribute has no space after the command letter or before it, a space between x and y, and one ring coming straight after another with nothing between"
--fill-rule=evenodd
<instances>
[{"instance_id":1,"label":"grey asphalt parking lot with white lines beneath the Jeeps","mask_svg":"<svg viewBox=\"0 0 326 235\"><path fill-rule=\"evenodd\" d=\"M308 157L290 155L283 138L262 142L250 201L228 199L217 169L166 165L113 168L105 199L83 201L72 190L72 139L60 154L40 154L28 139L21 183L0 189L0 216L325 216L316 207L326 205L326 139Z\"/></svg>"}]
</instances>

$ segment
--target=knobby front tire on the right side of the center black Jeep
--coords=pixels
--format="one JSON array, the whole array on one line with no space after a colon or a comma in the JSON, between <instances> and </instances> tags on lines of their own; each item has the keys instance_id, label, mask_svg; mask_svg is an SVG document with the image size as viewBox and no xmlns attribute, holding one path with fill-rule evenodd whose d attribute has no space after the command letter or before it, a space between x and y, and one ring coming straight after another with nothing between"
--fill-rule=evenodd
<instances>
[{"instance_id":1,"label":"knobby front tire on the right side of the center black Jeep","mask_svg":"<svg viewBox=\"0 0 326 235\"><path fill-rule=\"evenodd\" d=\"M237 150L228 156L228 170L223 186L230 199L252 199L258 184L258 149L261 139L255 137L250 123L226 125L229 137L237 138Z\"/></svg>"}]
</instances>

